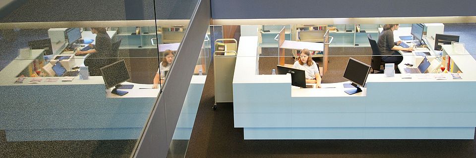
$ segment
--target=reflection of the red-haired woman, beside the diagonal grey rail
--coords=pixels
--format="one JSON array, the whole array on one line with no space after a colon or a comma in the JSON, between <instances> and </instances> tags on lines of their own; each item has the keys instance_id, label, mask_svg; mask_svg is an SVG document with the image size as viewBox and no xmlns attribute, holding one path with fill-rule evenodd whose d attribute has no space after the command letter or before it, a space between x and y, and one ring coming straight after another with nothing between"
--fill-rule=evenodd
<instances>
[{"instance_id":1,"label":"reflection of the red-haired woman, beside the diagonal grey rail","mask_svg":"<svg viewBox=\"0 0 476 158\"><path fill-rule=\"evenodd\" d=\"M159 81L160 81L160 84L164 84L165 71L169 71L172 65L172 62L174 62L175 54L172 50L169 50L169 49L165 50L164 56L165 58L162 59L162 62L160 62L159 70L157 70L157 74L155 74L154 85L152 86L152 88L158 88Z\"/></svg>"}]
</instances>

